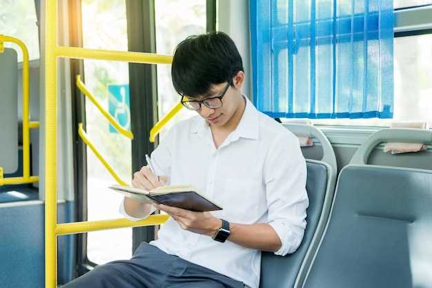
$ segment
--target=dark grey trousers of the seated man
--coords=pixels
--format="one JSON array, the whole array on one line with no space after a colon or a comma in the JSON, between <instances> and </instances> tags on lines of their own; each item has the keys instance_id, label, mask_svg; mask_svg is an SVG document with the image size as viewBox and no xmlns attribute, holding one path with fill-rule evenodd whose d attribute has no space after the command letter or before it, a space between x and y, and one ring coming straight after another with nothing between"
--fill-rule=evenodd
<instances>
[{"instance_id":1,"label":"dark grey trousers of the seated man","mask_svg":"<svg viewBox=\"0 0 432 288\"><path fill-rule=\"evenodd\" d=\"M141 243L130 260L99 265L63 288L243 288L239 282Z\"/></svg>"}]
</instances>

